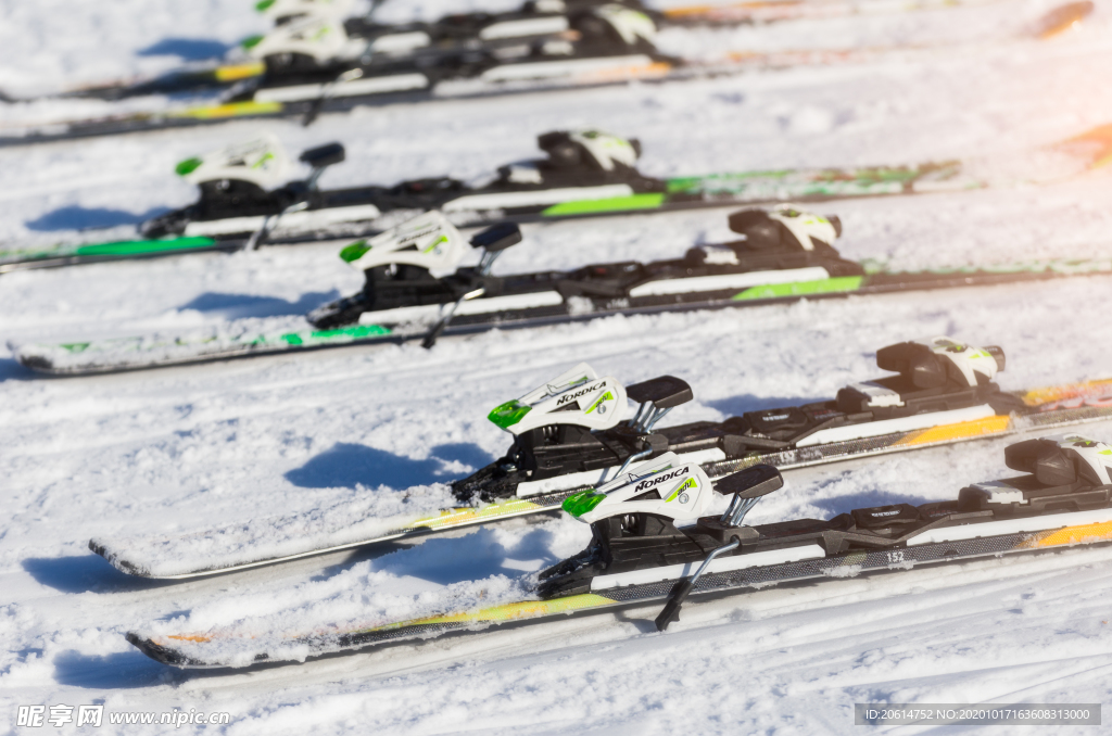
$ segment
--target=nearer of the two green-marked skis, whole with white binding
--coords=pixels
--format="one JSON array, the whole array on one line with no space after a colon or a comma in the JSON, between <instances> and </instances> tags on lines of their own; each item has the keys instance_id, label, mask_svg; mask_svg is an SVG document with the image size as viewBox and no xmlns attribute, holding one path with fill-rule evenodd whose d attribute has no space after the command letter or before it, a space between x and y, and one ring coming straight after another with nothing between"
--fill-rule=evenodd
<instances>
[{"instance_id":1,"label":"nearer of the two green-marked skis, whole with white binding","mask_svg":"<svg viewBox=\"0 0 1112 736\"><path fill-rule=\"evenodd\" d=\"M512 222L467 239L438 211L340 251L364 288L308 315L312 329L266 332L242 319L191 334L82 338L12 345L34 370L82 375L347 345L396 345L493 329L536 328L618 314L741 308L803 298L975 287L1112 271L1104 260L994 263L922 271L866 269L833 247L842 228L782 206L729 216L741 237L704 243L681 258L594 263L569 271L495 275L497 258L522 240ZM473 250L476 266L461 267ZM264 326L265 327L265 326Z\"/></svg>"}]
</instances>

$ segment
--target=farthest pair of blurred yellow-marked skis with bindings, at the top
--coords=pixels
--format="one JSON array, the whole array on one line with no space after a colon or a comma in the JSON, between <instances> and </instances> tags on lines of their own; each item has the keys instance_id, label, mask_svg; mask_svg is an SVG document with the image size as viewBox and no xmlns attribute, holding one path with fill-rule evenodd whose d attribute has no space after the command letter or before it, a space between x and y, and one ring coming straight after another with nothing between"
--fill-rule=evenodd
<instances>
[{"instance_id":1,"label":"farthest pair of blurred yellow-marked skis with bindings, at the top","mask_svg":"<svg viewBox=\"0 0 1112 736\"><path fill-rule=\"evenodd\" d=\"M970 0L972 2L973 0ZM277 4L277 3L276 3ZM284 22L245 44L241 58L217 67L191 68L133 83L91 86L70 97L120 99L149 95L220 92L217 103L157 109L86 120L53 121L0 137L19 145L137 130L211 123L244 117L300 117L308 123L322 111L357 105L415 101L451 96L560 89L632 79L683 79L695 74L784 68L873 58L877 50L733 51L718 59L685 59L661 51L657 24L732 23L764 6L783 12L806 9L855 11L892 7L857 2L744 3L729 12L706 8L654 13L638 2L532 0L502 14L453 16L434 23L386 27L367 18L344 19L311 4L279 11ZM902 3L901 3L902 4ZM916 8L953 3L924 0ZM814 8L812 8L814 6ZM309 8L308 12L305 10ZM1082 0L1055 8L1033 22L1025 38L1045 39L1075 28L1093 10ZM825 12L824 12L825 11ZM767 13L766 13L767 14ZM898 51L892 49L891 51ZM455 86L455 87L453 87ZM3 96L8 101L18 101Z\"/></svg>"}]
</instances>

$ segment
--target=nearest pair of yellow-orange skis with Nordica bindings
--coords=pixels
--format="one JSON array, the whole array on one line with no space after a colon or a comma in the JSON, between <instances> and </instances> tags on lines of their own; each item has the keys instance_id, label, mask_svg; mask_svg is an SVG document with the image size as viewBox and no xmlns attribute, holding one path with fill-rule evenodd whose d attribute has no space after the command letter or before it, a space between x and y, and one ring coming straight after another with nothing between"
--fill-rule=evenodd
<instances>
[{"instance_id":1,"label":"nearest pair of yellow-orange skis with Nordica bindings","mask_svg":"<svg viewBox=\"0 0 1112 736\"><path fill-rule=\"evenodd\" d=\"M971 486L956 501L857 509L828 521L744 526L745 513L756 499L778 488L780 470L1112 416L1109 380L1031 391L995 389L990 379L1004 364L997 348L935 338L885 348L877 352L877 361L900 372L851 385L828 402L664 429L656 426L659 417L691 398L686 384L663 377L624 387L577 366L492 412L492 420L514 431L515 441L506 457L454 484L457 497L471 498L466 506L401 524L378 520L383 529L390 523L397 526L361 539L357 535L376 520L353 523L358 511L337 507L308 515L311 520L259 519L190 536L97 539L90 547L125 573L180 579L562 507L595 529L584 553L544 573L535 588L508 604L484 607L476 598L458 609L414 619L321 620L311 631L269 630L264 619L207 631L173 631L163 625L128 635L146 654L175 666L228 667L304 660L400 639L669 599L657 621L663 629L687 595L1112 538L1108 477L1112 449L1075 435L1009 448L1007 465L1032 471L1031 479ZM627 397L641 404L632 415L625 409ZM962 411L982 416L953 421ZM897 429L909 421L916 428ZM605 451L615 452L609 461L624 457L620 467L538 481L520 479L527 467L533 477L546 469L552 473L552 463L545 460L552 454L546 456L545 447L566 459L567 452L559 451L562 441L580 448L580 463L605 463L603 450L583 449L580 430ZM837 439L837 431L856 437ZM832 441L820 441L822 432ZM641 444L634 441L638 439ZM777 444L777 449L758 449ZM714 456L708 447L733 457L708 460ZM499 474L503 480L517 477L517 481L493 483ZM593 476L589 481L587 475ZM546 483L559 488L545 491ZM734 503L722 517L702 516L714 489L735 496ZM484 501L484 494L503 497ZM320 528L321 519L330 519L334 528ZM259 540L266 540L266 550Z\"/></svg>"}]
</instances>

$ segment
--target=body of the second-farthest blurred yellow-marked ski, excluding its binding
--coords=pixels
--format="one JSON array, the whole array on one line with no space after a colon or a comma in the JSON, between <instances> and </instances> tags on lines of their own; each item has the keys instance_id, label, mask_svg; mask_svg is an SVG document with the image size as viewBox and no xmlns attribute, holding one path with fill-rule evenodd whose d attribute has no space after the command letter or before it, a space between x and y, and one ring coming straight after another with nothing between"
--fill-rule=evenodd
<instances>
[{"instance_id":1,"label":"body of the second-farthest blurred yellow-marked ski, excluding its binding","mask_svg":"<svg viewBox=\"0 0 1112 736\"><path fill-rule=\"evenodd\" d=\"M1073 2L1052 11L1025 36L1046 39L1080 23L1092 11L1090 2ZM1020 41L1023 42L1023 41ZM982 44L983 46L983 44ZM677 59L631 48L617 56L578 58L554 57L542 61L498 63L471 78L438 79L414 66L393 72L368 73L361 69L342 73L331 81L261 87L250 99L210 98L198 105L173 107L165 98L148 109L86 119L43 120L0 129L0 146L72 140L97 136L165 130L212 125L228 120L301 118L346 112L360 106L411 103L445 99L474 99L499 95L542 92L620 84L631 81L683 81L748 71L787 69L800 66L860 63L892 54L932 53L940 48L881 48L846 50L735 51L722 58ZM972 47L970 50L980 47ZM245 73L242 70L238 73Z\"/></svg>"}]
</instances>

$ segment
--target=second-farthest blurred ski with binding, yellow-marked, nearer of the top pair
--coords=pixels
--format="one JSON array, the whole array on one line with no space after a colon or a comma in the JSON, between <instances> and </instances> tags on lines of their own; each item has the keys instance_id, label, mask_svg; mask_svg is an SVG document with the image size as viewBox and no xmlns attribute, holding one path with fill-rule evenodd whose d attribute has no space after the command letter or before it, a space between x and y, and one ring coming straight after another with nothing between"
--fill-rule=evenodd
<instances>
[{"instance_id":1,"label":"second-farthest blurred ski with binding, yellow-marked, nearer of the top pair","mask_svg":"<svg viewBox=\"0 0 1112 736\"><path fill-rule=\"evenodd\" d=\"M1091 11L1089 2L1055 9L1017 42L1056 36L1079 24ZM299 118L308 125L322 113L346 112L361 106L489 98L631 81L683 81L804 64L854 63L893 53L934 52L939 48L804 49L767 53L739 50L714 59L685 59L657 50L655 23L647 14L632 8L602 4L570 17L568 22L568 33L555 39L540 37L487 51L464 44L459 50L430 52L428 58L376 60L363 54L366 43L347 38L342 23L336 19L308 16L277 29L276 32L284 37L294 38L276 43L260 76L250 77L247 67L234 67L230 73L244 78L219 99L210 96L183 107L156 105L148 106L152 109L99 118L19 123L0 130L0 146L238 119ZM1058 30L1051 32L1049 29ZM318 43L324 46L318 47ZM276 64L280 64L280 69Z\"/></svg>"}]
</instances>

